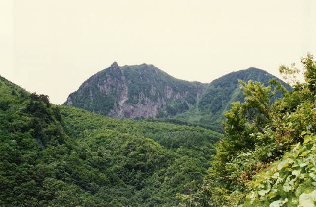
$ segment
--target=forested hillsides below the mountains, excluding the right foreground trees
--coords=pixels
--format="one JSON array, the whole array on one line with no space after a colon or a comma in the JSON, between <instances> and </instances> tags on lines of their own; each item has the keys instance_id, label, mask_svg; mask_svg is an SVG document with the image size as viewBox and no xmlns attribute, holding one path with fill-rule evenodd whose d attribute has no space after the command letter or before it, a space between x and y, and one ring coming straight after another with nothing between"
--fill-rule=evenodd
<instances>
[{"instance_id":1,"label":"forested hillsides below the mountains, excluding the right foreground trees","mask_svg":"<svg viewBox=\"0 0 316 207\"><path fill-rule=\"evenodd\" d=\"M220 138L55 106L0 77L0 206L176 205Z\"/></svg>"}]
</instances>

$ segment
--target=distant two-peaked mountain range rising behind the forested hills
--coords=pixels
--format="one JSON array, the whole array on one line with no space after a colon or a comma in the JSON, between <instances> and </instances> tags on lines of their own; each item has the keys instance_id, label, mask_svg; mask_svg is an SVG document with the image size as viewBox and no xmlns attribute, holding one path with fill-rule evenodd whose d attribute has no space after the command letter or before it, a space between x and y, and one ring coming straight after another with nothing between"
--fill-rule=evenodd
<instances>
[{"instance_id":1,"label":"distant two-peaked mountain range rising behind the forested hills","mask_svg":"<svg viewBox=\"0 0 316 207\"><path fill-rule=\"evenodd\" d=\"M153 65L119 67L114 63L86 80L65 104L115 118L172 118L171 122L223 132L224 112L231 103L244 100L238 79L267 86L271 78L276 77L249 68L202 84L178 80ZM276 97L281 94L272 100Z\"/></svg>"}]
</instances>

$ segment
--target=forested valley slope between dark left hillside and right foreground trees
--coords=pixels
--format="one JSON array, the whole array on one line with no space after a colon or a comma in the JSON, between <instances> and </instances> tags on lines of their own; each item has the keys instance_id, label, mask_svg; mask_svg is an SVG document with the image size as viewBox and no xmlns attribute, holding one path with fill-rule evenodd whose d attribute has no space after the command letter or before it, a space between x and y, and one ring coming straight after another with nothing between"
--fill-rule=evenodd
<instances>
[{"instance_id":1,"label":"forested valley slope between dark left hillside and right foreground trees","mask_svg":"<svg viewBox=\"0 0 316 207\"><path fill-rule=\"evenodd\" d=\"M117 199L122 202L126 195L134 195L127 200L134 200L134 205L175 205L175 194L188 191L192 180L199 183L206 174L213 143L221 138L200 127L115 120L70 107L62 107L62 114L85 150L108 153L107 165L93 166L112 172L113 184L124 183L129 191Z\"/></svg>"}]
</instances>

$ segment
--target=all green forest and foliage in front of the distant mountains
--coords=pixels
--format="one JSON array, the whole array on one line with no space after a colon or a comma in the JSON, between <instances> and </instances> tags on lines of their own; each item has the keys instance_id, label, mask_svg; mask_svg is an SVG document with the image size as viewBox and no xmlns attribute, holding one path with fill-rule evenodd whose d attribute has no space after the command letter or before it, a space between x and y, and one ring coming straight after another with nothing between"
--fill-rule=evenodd
<instances>
[{"instance_id":1,"label":"all green forest and foliage in front of the distant mountains","mask_svg":"<svg viewBox=\"0 0 316 207\"><path fill-rule=\"evenodd\" d=\"M302 63L304 83L280 67L293 90L240 80L224 135L57 106L0 76L0 206L313 207L316 61Z\"/></svg>"}]
</instances>

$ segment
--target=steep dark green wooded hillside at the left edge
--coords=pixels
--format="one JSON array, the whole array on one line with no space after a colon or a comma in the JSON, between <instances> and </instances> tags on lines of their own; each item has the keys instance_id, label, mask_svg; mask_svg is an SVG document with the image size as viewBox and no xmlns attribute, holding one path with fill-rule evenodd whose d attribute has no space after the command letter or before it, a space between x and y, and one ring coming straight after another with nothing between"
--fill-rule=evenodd
<instances>
[{"instance_id":1,"label":"steep dark green wooded hillside at the left edge","mask_svg":"<svg viewBox=\"0 0 316 207\"><path fill-rule=\"evenodd\" d=\"M59 121L61 114L48 96L29 94L2 77L0 83L5 100L0 110L0 205L56 204L66 180L58 181L60 187L53 194L43 188L47 178L54 181L60 176L54 166L67 159L73 145ZM70 183L67 188L73 189ZM66 195L76 198L71 192Z\"/></svg>"}]
</instances>

